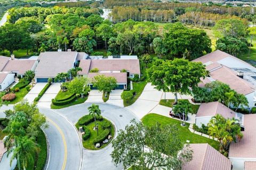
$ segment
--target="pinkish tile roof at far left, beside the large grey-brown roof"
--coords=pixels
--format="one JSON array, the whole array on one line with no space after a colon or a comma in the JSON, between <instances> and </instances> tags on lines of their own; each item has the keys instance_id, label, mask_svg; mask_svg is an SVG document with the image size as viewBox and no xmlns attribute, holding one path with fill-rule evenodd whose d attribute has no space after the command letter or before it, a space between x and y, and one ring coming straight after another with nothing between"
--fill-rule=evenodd
<instances>
[{"instance_id":1,"label":"pinkish tile roof at far left, beside the large grey-brown roof","mask_svg":"<svg viewBox=\"0 0 256 170\"><path fill-rule=\"evenodd\" d=\"M2 71L11 72L18 71L19 74L25 74L31 70L36 60L9 60Z\"/></svg>"}]
</instances>

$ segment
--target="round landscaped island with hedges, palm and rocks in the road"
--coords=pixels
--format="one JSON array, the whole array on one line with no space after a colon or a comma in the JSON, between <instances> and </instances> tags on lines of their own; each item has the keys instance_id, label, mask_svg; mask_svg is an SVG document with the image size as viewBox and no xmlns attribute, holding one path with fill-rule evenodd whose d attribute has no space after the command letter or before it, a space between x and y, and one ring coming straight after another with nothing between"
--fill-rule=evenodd
<instances>
[{"instance_id":1,"label":"round landscaped island with hedges, palm and rocks in the road","mask_svg":"<svg viewBox=\"0 0 256 170\"><path fill-rule=\"evenodd\" d=\"M95 124L98 124L98 137ZM81 117L76 123L76 128L79 132L83 129L82 140L83 146L86 149L97 150L106 147L115 135L114 125L102 116L96 116L96 122L94 122L94 116L85 115ZM100 143L100 147L96 147L97 143Z\"/></svg>"}]
</instances>

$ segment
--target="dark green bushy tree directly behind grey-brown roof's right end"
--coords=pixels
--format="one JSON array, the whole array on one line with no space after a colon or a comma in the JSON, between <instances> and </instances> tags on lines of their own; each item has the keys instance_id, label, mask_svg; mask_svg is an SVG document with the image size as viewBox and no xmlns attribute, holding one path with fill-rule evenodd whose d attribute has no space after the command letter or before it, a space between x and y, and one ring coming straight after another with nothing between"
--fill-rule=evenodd
<instances>
[{"instance_id":1,"label":"dark green bushy tree directly behind grey-brown roof's right end","mask_svg":"<svg viewBox=\"0 0 256 170\"><path fill-rule=\"evenodd\" d=\"M96 46L96 41L94 39L87 39L86 37L76 38L73 42L73 48L78 52L85 52L91 54L93 52L93 47Z\"/></svg>"}]
</instances>

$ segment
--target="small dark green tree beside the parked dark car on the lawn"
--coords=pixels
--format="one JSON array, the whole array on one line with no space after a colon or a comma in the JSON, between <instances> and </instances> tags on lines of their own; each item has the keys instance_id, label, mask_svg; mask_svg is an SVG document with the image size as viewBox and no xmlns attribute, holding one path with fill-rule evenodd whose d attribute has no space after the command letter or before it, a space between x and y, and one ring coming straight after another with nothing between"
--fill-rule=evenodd
<instances>
[{"instance_id":1,"label":"small dark green tree beside the parked dark car on the lawn","mask_svg":"<svg viewBox=\"0 0 256 170\"><path fill-rule=\"evenodd\" d=\"M193 114L192 106L188 100L180 100L177 105L173 107L173 112L180 116L180 122L182 126L186 126L186 118L188 113Z\"/></svg>"}]
</instances>

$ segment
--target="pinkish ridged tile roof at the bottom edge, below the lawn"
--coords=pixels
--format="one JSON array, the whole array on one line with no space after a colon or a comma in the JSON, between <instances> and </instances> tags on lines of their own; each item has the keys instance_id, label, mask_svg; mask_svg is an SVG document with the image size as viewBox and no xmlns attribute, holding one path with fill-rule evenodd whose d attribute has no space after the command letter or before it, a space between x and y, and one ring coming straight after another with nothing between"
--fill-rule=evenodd
<instances>
[{"instance_id":1,"label":"pinkish ridged tile roof at the bottom edge, below the lawn","mask_svg":"<svg viewBox=\"0 0 256 170\"><path fill-rule=\"evenodd\" d=\"M193 159L182 170L231 170L231 162L207 143L189 145Z\"/></svg>"}]
</instances>

